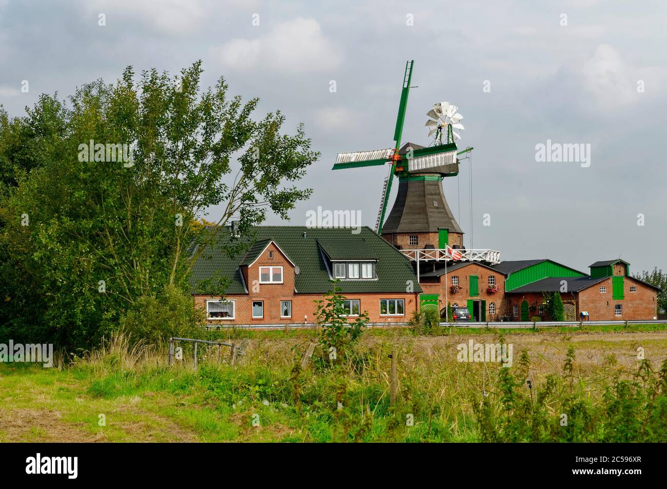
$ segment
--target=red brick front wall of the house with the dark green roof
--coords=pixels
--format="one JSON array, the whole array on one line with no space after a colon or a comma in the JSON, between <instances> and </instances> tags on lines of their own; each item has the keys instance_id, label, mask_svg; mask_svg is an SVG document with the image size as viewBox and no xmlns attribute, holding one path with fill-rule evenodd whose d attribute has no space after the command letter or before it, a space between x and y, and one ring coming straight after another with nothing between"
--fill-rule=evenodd
<instances>
[{"instance_id":1,"label":"red brick front wall of the house with the dark green roof","mask_svg":"<svg viewBox=\"0 0 667 489\"><path fill-rule=\"evenodd\" d=\"M269 251L273 251L273 259L269 258ZM282 266L283 284L260 284L259 267ZM294 268L287 258L281 254L279 249L271 243L267 249L257 258L257 261L249 267L242 267L243 276L246 280L248 295L229 295L228 300L233 300L233 320L208 320L211 325L225 326L230 324L293 324L312 323L315 318L317 304L313 301L321 300L320 294L295 294L294 293ZM416 294L349 294L348 299L359 299L362 311L368 311L370 322L407 322L416 308ZM219 300L219 297L195 296L195 304L205 308L206 300ZM380 316L380 299L404 299L404 316ZM252 317L252 302L264 302L264 317L261 319ZM291 300L291 318L280 317L280 302Z\"/></svg>"}]
</instances>

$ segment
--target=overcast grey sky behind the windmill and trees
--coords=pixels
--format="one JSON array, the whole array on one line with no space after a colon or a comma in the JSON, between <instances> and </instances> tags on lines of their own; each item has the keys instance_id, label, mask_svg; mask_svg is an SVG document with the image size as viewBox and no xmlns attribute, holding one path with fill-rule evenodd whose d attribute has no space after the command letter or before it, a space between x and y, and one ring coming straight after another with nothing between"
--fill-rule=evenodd
<instances>
[{"instance_id":1,"label":"overcast grey sky behind the windmill and trees","mask_svg":"<svg viewBox=\"0 0 667 489\"><path fill-rule=\"evenodd\" d=\"M175 73L202 59L203 85L224 75L261 112L281 109L289 131L305 123L321 151L303 181L313 196L289 223L321 205L374 226L386 169L331 165L338 151L393 144L414 59L404 141L428 145L425 114L450 101L464 115L459 146L475 148L472 223L470 160L444 182L468 248L474 235L504 260L587 271L621 256L634 272L667 270L666 21L666 3L646 0L0 0L0 103L23 115L40 93L113 82L127 65ZM590 166L536 161L547 139L590 144Z\"/></svg>"}]
</instances>

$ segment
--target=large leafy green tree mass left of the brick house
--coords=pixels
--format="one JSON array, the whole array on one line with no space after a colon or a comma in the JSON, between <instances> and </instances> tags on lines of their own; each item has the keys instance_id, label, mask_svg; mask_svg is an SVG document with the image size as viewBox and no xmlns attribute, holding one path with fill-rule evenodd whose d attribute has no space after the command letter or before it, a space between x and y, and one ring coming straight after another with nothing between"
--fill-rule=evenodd
<instances>
[{"instance_id":1,"label":"large leafy green tree mass left of the brick house","mask_svg":"<svg viewBox=\"0 0 667 489\"><path fill-rule=\"evenodd\" d=\"M230 97L222 78L201 89L201 73L198 61L136 80L128 67L67 105L43 95L27 117L2 119L0 253L13 271L0 295L15 332L85 348L129 312L137 324L145 298L189 295L207 246L235 254L267 211L286 219L309 197L293 183L319 156L302 125L284 134L279 111L257 119L257 99ZM213 205L215 225L201 226ZM246 239L219 239L231 220Z\"/></svg>"}]
</instances>

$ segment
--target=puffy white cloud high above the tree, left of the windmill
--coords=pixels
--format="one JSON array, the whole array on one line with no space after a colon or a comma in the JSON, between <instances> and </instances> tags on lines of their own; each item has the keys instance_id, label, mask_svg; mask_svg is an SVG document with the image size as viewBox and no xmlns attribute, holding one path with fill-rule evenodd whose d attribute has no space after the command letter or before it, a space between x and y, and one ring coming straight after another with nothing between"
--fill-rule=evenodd
<instances>
[{"instance_id":1,"label":"puffy white cloud high above the tree, left of the windmill","mask_svg":"<svg viewBox=\"0 0 667 489\"><path fill-rule=\"evenodd\" d=\"M277 24L255 39L232 39L211 54L235 69L267 67L277 71L304 73L340 65L342 55L321 32L315 19L297 17Z\"/></svg>"}]
</instances>

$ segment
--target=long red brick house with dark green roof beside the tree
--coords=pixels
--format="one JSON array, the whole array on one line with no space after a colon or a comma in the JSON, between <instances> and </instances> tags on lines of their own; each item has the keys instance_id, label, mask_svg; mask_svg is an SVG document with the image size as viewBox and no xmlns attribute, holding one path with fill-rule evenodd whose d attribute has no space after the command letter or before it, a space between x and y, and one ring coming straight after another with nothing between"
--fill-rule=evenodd
<instances>
[{"instance_id":1,"label":"long red brick house with dark green roof beside the tree","mask_svg":"<svg viewBox=\"0 0 667 489\"><path fill-rule=\"evenodd\" d=\"M255 233L245 253L230 258L211 246L195 263L193 296L210 326L311 324L314 301L334 279L351 317L367 312L370 322L406 322L416 310L422 290L412 264L368 227L354 234L345 228L258 226ZM212 292L216 288L221 292Z\"/></svg>"}]
</instances>

